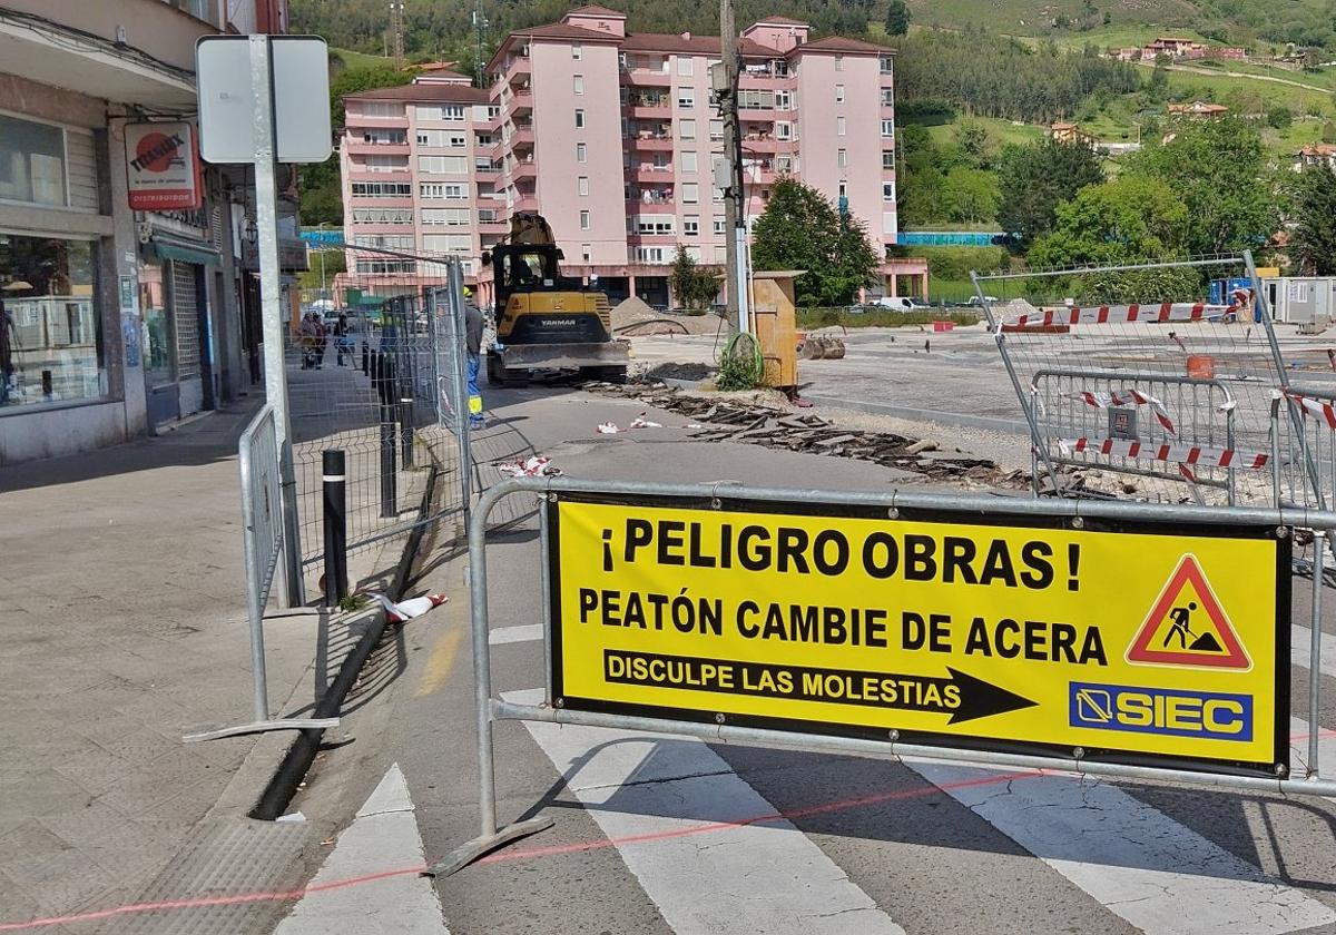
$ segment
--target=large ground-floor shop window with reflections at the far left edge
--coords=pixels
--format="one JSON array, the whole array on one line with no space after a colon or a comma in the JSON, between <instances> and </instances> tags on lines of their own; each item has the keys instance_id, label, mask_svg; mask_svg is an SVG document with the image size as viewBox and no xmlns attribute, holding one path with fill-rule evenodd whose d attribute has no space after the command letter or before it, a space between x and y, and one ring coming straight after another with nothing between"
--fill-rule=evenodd
<instances>
[{"instance_id":1,"label":"large ground-floor shop window with reflections at the far left edge","mask_svg":"<svg viewBox=\"0 0 1336 935\"><path fill-rule=\"evenodd\" d=\"M107 395L94 252L0 231L0 411Z\"/></svg>"}]
</instances>

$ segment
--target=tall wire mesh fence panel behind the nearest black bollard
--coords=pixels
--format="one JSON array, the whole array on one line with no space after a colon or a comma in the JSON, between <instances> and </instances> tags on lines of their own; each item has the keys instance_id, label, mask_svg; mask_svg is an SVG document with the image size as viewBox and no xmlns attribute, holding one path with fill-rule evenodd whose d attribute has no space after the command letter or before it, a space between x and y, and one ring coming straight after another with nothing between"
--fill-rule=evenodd
<instances>
[{"instance_id":1,"label":"tall wire mesh fence panel behind the nearest black bollard","mask_svg":"<svg viewBox=\"0 0 1336 935\"><path fill-rule=\"evenodd\" d=\"M366 549L414 525L462 513L470 496L464 279L442 260L445 287L397 285L374 311L345 313L349 334L301 337L287 355L302 562L322 557L321 461L346 453L347 548ZM313 314L313 313L306 313ZM327 313L334 327L337 313ZM309 329L310 330L310 329ZM460 418L460 414L464 418ZM440 510L417 513L420 480L441 473ZM407 516L411 513L411 516Z\"/></svg>"}]
</instances>

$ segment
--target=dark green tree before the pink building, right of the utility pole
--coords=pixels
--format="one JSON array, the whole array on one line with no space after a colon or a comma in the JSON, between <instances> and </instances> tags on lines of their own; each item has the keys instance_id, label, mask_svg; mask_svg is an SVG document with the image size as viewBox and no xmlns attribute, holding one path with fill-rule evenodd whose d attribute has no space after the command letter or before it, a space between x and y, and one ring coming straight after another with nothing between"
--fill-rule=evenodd
<instances>
[{"instance_id":1,"label":"dark green tree before the pink building, right of the utility pole","mask_svg":"<svg viewBox=\"0 0 1336 935\"><path fill-rule=\"evenodd\" d=\"M752 238L758 270L806 270L794 285L799 305L848 305L875 282L878 256L863 224L795 179L775 183Z\"/></svg>"}]
</instances>

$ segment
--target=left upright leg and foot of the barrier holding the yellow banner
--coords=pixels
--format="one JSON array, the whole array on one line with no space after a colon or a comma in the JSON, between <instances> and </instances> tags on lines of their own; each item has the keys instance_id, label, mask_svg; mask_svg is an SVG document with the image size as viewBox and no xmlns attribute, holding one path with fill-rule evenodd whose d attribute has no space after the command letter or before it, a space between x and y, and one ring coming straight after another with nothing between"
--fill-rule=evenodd
<instances>
[{"instance_id":1,"label":"left upright leg and foot of the barrier holding the yellow banner","mask_svg":"<svg viewBox=\"0 0 1336 935\"><path fill-rule=\"evenodd\" d=\"M488 642L488 514L492 506L506 493L494 489L482 502L469 522L469 598L472 601L473 632L473 699L478 719L478 836L461 844L433 864L425 876L449 876L468 867L489 851L528 835L546 831L553 821L549 817L536 817L516 821L497 828L497 784L496 763L492 748L492 653ZM545 510L540 510L545 512ZM544 560L546 564L546 560ZM546 652L546 642L544 642Z\"/></svg>"}]
</instances>

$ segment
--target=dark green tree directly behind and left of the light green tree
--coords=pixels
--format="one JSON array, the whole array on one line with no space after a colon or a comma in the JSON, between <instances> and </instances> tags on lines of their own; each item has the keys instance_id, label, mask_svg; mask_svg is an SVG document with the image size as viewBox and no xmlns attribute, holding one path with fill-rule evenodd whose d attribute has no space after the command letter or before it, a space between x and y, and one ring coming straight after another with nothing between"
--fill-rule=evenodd
<instances>
[{"instance_id":1,"label":"dark green tree directly behind and left of the light green tree","mask_svg":"<svg viewBox=\"0 0 1336 935\"><path fill-rule=\"evenodd\" d=\"M1009 147L998 168L997 219L1022 246L1053 230L1059 203L1104 182L1100 156L1088 146L1045 140Z\"/></svg>"}]
</instances>

